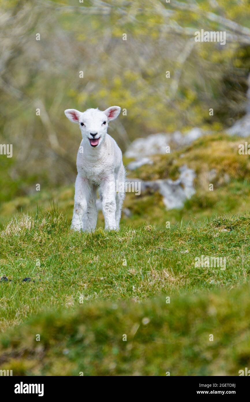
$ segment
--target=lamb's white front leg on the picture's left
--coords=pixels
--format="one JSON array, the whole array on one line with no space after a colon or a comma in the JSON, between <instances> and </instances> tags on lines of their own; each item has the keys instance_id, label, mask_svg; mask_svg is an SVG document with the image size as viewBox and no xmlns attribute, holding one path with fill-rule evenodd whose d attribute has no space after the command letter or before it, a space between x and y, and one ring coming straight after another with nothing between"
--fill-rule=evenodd
<instances>
[{"instance_id":1,"label":"lamb's white front leg on the picture's left","mask_svg":"<svg viewBox=\"0 0 250 402\"><path fill-rule=\"evenodd\" d=\"M86 223L87 205L91 188L88 180L77 174L75 180L75 204L71 228L74 230L89 230Z\"/></svg>"}]
</instances>

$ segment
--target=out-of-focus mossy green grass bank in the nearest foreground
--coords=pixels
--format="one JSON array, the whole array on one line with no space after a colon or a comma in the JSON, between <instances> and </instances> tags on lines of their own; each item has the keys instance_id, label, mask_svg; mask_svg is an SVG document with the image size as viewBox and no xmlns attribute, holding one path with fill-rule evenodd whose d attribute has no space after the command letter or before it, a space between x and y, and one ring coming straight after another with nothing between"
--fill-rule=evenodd
<instances>
[{"instance_id":1,"label":"out-of-focus mossy green grass bank in the nearest foreground","mask_svg":"<svg viewBox=\"0 0 250 402\"><path fill-rule=\"evenodd\" d=\"M40 314L1 336L1 369L13 375L239 375L250 366L249 291L245 285L173 295L169 304L165 291L142 303L95 302Z\"/></svg>"}]
</instances>

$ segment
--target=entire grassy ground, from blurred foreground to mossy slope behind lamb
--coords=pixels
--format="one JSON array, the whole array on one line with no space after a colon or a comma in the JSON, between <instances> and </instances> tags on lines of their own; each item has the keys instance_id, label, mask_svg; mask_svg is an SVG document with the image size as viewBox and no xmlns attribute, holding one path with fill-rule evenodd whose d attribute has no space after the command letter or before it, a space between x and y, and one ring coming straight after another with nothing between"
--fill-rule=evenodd
<instances>
[{"instance_id":1,"label":"entire grassy ground, from blurred foreground to mossy slope behind lamb","mask_svg":"<svg viewBox=\"0 0 250 402\"><path fill-rule=\"evenodd\" d=\"M211 135L128 172L175 179L187 164L196 193L170 211L159 193L128 193L131 216L119 232L104 231L101 213L94 233L70 230L73 185L2 202L0 277L9 281L0 282L0 369L238 375L249 367L250 158L238 155L241 142ZM225 257L226 270L196 268L201 255Z\"/></svg>"}]
</instances>

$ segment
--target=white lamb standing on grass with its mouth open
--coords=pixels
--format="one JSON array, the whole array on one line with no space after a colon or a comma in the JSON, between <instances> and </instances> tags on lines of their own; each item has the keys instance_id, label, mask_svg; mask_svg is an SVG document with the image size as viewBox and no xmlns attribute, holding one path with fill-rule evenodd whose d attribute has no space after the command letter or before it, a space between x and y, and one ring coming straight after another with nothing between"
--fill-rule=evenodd
<instances>
[{"instance_id":1,"label":"white lamb standing on grass with its mouth open","mask_svg":"<svg viewBox=\"0 0 250 402\"><path fill-rule=\"evenodd\" d=\"M93 231L96 228L96 191L99 189L106 230L119 230L122 203L125 197L125 169L122 152L107 133L108 123L118 117L121 108L112 106L105 111L87 109L65 110L73 123L78 123L82 141L77 154L75 203L71 228Z\"/></svg>"}]
</instances>

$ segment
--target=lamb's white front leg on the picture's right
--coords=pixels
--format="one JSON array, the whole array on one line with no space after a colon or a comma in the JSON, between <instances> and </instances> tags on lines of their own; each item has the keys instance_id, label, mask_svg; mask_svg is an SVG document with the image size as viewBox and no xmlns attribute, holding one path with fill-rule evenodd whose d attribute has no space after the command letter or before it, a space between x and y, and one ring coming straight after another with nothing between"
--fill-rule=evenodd
<instances>
[{"instance_id":1,"label":"lamb's white front leg on the picture's right","mask_svg":"<svg viewBox=\"0 0 250 402\"><path fill-rule=\"evenodd\" d=\"M116 188L114 176L102 180L100 184L102 193L102 211L106 230L116 230Z\"/></svg>"}]
</instances>

